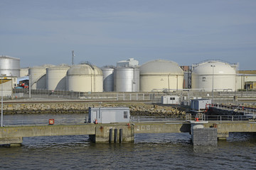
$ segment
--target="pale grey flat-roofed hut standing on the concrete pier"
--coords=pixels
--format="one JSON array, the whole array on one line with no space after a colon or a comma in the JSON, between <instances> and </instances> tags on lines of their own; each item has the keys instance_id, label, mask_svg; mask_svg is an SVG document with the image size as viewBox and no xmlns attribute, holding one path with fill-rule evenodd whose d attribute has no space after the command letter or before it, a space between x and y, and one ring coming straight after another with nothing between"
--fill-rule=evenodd
<instances>
[{"instance_id":1,"label":"pale grey flat-roofed hut standing on the concrete pier","mask_svg":"<svg viewBox=\"0 0 256 170\"><path fill-rule=\"evenodd\" d=\"M129 123L129 108L89 108L88 123Z\"/></svg>"}]
</instances>

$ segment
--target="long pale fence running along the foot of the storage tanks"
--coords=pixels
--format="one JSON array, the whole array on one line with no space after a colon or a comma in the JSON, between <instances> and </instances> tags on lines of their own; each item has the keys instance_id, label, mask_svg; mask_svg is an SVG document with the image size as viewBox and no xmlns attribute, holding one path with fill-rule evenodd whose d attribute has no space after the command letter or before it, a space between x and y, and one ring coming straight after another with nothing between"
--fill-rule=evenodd
<instances>
[{"instance_id":1,"label":"long pale fence running along the foot of the storage tanks","mask_svg":"<svg viewBox=\"0 0 256 170\"><path fill-rule=\"evenodd\" d=\"M28 98L28 89L14 89L15 94L23 93L23 98ZM256 91L214 91L213 96L209 91L194 91L184 89L183 91L164 92L79 92L79 91L48 91L46 89L31 90L31 98L65 98L82 100L114 100L114 101L151 101L161 103L161 96L179 96L180 101L189 105L192 98L208 98L214 103L238 103L238 98L255 101ZM244 102L245 103L245 102ZM255 105L255 103L254 103Z\"/></svg>"}]
</instances>

